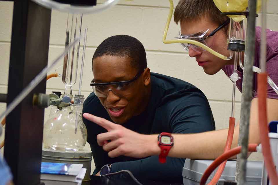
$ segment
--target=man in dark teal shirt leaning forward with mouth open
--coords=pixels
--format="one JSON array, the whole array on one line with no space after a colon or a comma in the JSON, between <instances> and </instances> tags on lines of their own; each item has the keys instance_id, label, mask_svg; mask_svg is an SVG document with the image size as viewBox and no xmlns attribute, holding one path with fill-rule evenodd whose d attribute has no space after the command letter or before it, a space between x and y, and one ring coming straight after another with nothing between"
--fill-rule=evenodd
<instances>
[{"instance_id":1,"label":"man in dark teal shirt leaning forward with mouth open","mask_svg":"<svg viewBox=\"0 0 278 185\"><path fill-rule=\"evenodd\" d=\"M151 73L146 53L136 38L112 36L96 49L91 82L94 92L84 102L83 113L93 114L140 134L198 133L215 129L209 102L201 90L180 79ZM182 158L158 156L138 159L110 158L97 143L103 127L83 119L98 174L111 164L111 172L129 170L139 180L182 182ZM112 140L113 141L113 140Z\"/></svg>"}]
</instances>

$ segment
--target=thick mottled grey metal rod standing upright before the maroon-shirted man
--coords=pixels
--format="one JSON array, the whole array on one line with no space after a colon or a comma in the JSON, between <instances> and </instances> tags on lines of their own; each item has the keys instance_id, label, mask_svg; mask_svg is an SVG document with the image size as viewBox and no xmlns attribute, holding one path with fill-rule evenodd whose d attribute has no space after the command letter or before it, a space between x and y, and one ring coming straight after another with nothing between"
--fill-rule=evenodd
<instances>
[{"instance_id":1,"label":"thick mottled grey metal rod standing upright before the maroon-shirted man","mask_svg":"<svg viewBox=\"0 0 278 185\"><path fill-rule=\"evenodd\" d=\"M242 146L241 153L237 156L237 176L240 185L246 184L246 160L248 153L250 104L253 89L253 64L255 54L255 25L256 25L257 0L248 1L249 15L247 17L246 46L244 53L244 71L242 83L242 103L239 126L239 145Z\"/></svg>"}]
</instances>

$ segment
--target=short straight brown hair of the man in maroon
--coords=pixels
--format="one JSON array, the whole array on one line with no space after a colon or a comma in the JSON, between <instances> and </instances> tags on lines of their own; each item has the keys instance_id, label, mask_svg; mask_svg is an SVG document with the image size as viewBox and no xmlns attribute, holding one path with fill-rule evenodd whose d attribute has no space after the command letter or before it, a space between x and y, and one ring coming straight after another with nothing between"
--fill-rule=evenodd
<instances>
[{"instance_id":1,"label":"short straight brown hair of the man in maroon","mask_svg":"<svg viewBox=\"0 0 278 185\"><path fill-rule=\"evenodd\" d=\"M215 6L213 0L180 0L175 8L174 21L176 24L201 18L209 18L217 25L221 25L229 17L221 15L221 11ZM224 27L224 31L226 36L228 36L228 26Z\"/></svg>"}]
</instances>

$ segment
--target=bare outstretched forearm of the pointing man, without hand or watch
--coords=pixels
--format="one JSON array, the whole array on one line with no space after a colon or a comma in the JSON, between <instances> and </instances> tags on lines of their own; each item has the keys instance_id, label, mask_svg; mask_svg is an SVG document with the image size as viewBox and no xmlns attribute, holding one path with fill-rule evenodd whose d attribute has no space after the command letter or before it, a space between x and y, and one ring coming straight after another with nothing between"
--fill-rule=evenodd
<instances>
[{"instance_id":1,"label":"bare outstretched forearm of the pointing man, without hand or watch","mask_svg":"<svg viewBox=\"0 0 278 185\"><path fill-rule=\"evenodd\" d=\"M228 135L228 129L202 132L197 134L172 134L174 145L168 156L190 159L215 159L224 152ZM231 148L237 147L239 125L235 127ZM153 142L151 155L159 155L160 148L157 145L157 135L151 135ZM155 143L156 141L156 143ZM151 142L150 142L151 143ZM260 143L259 129L256 125L250 125L249 143Z\"/></svg>"}]
</instances>

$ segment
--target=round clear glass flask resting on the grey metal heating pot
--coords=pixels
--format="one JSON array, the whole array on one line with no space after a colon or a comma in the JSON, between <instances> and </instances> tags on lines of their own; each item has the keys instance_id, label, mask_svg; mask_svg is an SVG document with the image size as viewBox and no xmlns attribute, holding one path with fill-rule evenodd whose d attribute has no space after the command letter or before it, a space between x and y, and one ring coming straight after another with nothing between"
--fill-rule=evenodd
<instances>
[{"instance_id":1,"label":"round clear glass flask resting on the grey metal heating pot","mask_svg":"<svg viewBox=\"0 0 278 185\"><path fill-rule=\"evenodd\" d=\"M74 106L59 109L46 121L43 148L55 151L83 150L87 141L87 129L82 120L83 101L82 95L75 96Z\"/></svg>"}]
</instances>

